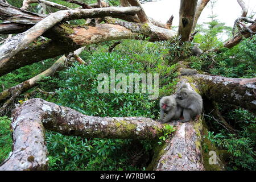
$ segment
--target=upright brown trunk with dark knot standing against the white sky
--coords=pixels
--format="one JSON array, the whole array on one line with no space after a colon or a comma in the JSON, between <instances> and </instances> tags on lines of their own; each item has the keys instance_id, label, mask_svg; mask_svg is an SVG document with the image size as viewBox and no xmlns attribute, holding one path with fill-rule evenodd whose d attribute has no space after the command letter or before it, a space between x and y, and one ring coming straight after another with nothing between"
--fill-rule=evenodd
<instances>
[{"instance_id":1,"label":"upright brown trunk with dark knot standing against the white sky","mask_svg":"<svg viewBox=\"0 0 256 182\"><path fill-rule=\"evenodd\" d=\"M180 0L180 22L178 35L181 36L182 42L189 40L194 22L196 5L197 0Z\"/></svg>"}]
</instances>

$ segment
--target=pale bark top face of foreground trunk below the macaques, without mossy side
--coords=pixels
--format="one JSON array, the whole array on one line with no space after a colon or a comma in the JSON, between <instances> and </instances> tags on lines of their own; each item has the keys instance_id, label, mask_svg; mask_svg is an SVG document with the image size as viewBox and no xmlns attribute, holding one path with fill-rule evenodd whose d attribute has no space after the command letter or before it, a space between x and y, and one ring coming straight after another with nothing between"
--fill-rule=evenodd
<instances>
[{"instance_id":1,"label":"pale bark top face of foreground trunk below the macaques, without mossy side","mask_svg":"<svg viewBox=\"0 0 256 182\"><path fill-rule=\"evenodd\" d=\"M155 164L157 171L203 171L201 135L196 135L196 125L201 121L176 126L175 136L166 144L164 155ZM200 123L201 124L201 123ZM197 126L198 127L198 126ZM197 128L200 131L203 127Z\"/></svg>"}]
</instances>

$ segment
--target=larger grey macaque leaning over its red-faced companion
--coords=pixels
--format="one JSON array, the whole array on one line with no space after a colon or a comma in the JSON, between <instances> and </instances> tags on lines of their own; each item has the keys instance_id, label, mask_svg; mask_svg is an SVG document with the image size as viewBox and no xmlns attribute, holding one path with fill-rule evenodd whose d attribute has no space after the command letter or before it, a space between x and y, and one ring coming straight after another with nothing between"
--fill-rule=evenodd
<instances>
[{"instance_id":1,"label":"larger grey macaque leaning over its red-faced companion","mask_svg":"<svg viewBox=\"0 0 256 182\"><path fill-rule=\"evenodd\" d=\"M188 122L193 117L201 114L203 109L202 97L193 90L189 90L186 84L181 84L176 93L177 105L183 108L184 119L180 122Z\"/></svg>"}]
</instances>

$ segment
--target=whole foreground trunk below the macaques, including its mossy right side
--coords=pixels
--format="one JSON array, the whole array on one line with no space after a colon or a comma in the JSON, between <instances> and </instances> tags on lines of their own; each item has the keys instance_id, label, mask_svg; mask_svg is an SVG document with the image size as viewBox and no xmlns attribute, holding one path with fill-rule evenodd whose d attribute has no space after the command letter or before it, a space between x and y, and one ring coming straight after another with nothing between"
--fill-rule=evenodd
<instances>
[{"instance_id":1,"label":"whole foreground trunk below the macaques, including its mossy right side","mask_svg":"<svg viewBox=\"0 0 256 182\"><path fill-rule=\"evenodd\" d=\"M215 146L205 138L208 131L203 119L176 126L175 135L161 148L152 168L156 171L223 171L225 165ZM203 146L208 147L204 151ZM216 156L214 162L210 151ZM157 158L157 157L156 157ZM212 162L212 163L211 163Z\"/></svg>"}]
</instances>

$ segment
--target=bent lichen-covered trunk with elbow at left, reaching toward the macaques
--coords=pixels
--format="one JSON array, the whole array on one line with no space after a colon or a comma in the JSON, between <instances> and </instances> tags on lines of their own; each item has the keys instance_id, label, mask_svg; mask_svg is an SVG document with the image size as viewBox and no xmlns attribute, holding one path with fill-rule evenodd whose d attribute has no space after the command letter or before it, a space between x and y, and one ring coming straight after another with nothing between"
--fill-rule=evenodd
<instances>
[{"instance_id":1,"label":"bent lichen-covered trunk with elbow at left, reaching toward the macaques","mask_svg":"<svg viewBox=\"0 0 256 182\"><path fill-rule=\"evenodd\" d=\"M149 118L101 118L83 115L40 98L24 102L13 112L13 152L1 170L48 168L44 127L64 135L97 138L158 139L163 126Z\"/></svg>"}]
</instances>

